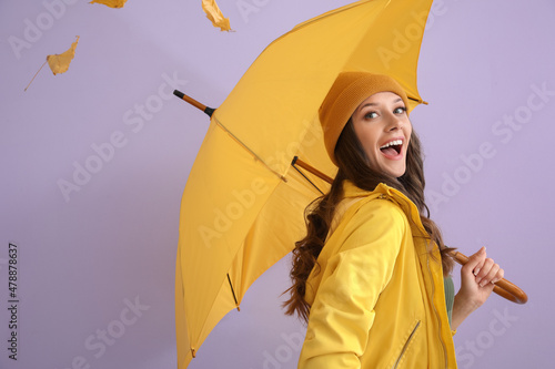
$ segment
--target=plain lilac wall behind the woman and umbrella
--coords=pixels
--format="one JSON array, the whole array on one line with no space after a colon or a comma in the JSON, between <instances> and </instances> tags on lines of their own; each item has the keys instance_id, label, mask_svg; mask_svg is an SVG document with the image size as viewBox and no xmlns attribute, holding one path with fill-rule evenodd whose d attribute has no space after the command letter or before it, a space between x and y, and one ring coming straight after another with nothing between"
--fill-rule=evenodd
<instances>
[{"instance_id":1,"label":"plain lilac wall behind the woman and umbrella","mask_svg":"<svg viewBox=\"0 0 555 369\"><path fill-rule=\"evenodd\" d=\"M200 0L0 2L2 369L175 368L179 205L208 120L169 94L218 106L268 43L347 2L220 0L234 33L214 29ZM486 245L529 296L525 306L493 296L465 322L461 368L553 361L554 17L548 0L442 0L426 29L418 81L431 104L412 120L432 214L450 245ZM44 68L23 92L75 35L69 72ZM14 51L13 37L27 47ZM85 165L97 173L75 183ZM64 196L60 180L75 191ZM19 247L17 361L7 350L9 243ZM279 308L286 262L190 368L296 367L303 328Z\"/></svg>"}]
</instances>

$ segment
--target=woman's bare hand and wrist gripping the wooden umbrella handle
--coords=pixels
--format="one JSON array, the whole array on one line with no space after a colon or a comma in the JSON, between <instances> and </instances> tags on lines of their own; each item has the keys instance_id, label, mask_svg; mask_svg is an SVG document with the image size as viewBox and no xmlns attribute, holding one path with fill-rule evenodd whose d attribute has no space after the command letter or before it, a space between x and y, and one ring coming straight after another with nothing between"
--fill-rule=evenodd
<instances>
[{"instance_id":1,"label":"woman's bare hand and wrist gripping the wooden umbrella handle","mask_svg":"<svg viewBox=\"0 0 555 369\"><path fill-rule=\"evenodd\" d=\"M451 329L455 330L493 291L494 283L502 279L503 269L486 257L485 247L472 255L461 268L461 289L455 295Z\"/></svg>"}]
</instances>

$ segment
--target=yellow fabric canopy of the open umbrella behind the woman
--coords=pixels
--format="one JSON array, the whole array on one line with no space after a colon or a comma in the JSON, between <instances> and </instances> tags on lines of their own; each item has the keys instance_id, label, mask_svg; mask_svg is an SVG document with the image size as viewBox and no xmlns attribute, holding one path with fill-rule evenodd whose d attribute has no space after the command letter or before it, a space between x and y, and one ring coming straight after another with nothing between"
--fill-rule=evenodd
<instances>
[{"instance_id":1,"label":"yellow fabric canopy of the open umbrella behind the woman","mask_svg":"<svg viewBox=\"0 0 555 369\"><path fill-rule=\"evenodd\" d=\"M249 286L286 255L303 209L329 184L292 170L294 156L333 177L317 109L341 71L390 74L412 106L431 0L359 1L271 43L223 104L188 180L176 262L178 362L185 368Z\"/></svg>"}]
</instances>

